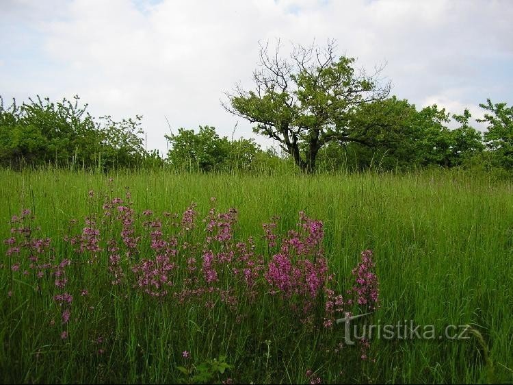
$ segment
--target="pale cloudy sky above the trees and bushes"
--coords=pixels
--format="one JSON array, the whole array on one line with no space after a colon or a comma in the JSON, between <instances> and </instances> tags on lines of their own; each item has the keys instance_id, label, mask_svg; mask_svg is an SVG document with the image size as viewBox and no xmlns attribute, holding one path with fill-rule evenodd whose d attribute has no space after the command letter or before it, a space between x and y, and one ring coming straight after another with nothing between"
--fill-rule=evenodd
<instances>
[{"instance_id":1,"label":"pale cloudy sky above the trees and bushes","mask_svg":"<svg viewBox=\"0 0 513 385\"><path fill-rule=\"evenodd\" d=\"M386 64L400 99L479 117L486 98L513 103L512 20L513 0L0 0L0 95L140 114L161 153L170 129L199 125L265 148L222 108L224 92L252 87L259 42L334 39L359 67Z\"/></svg>"}]
</instances>

